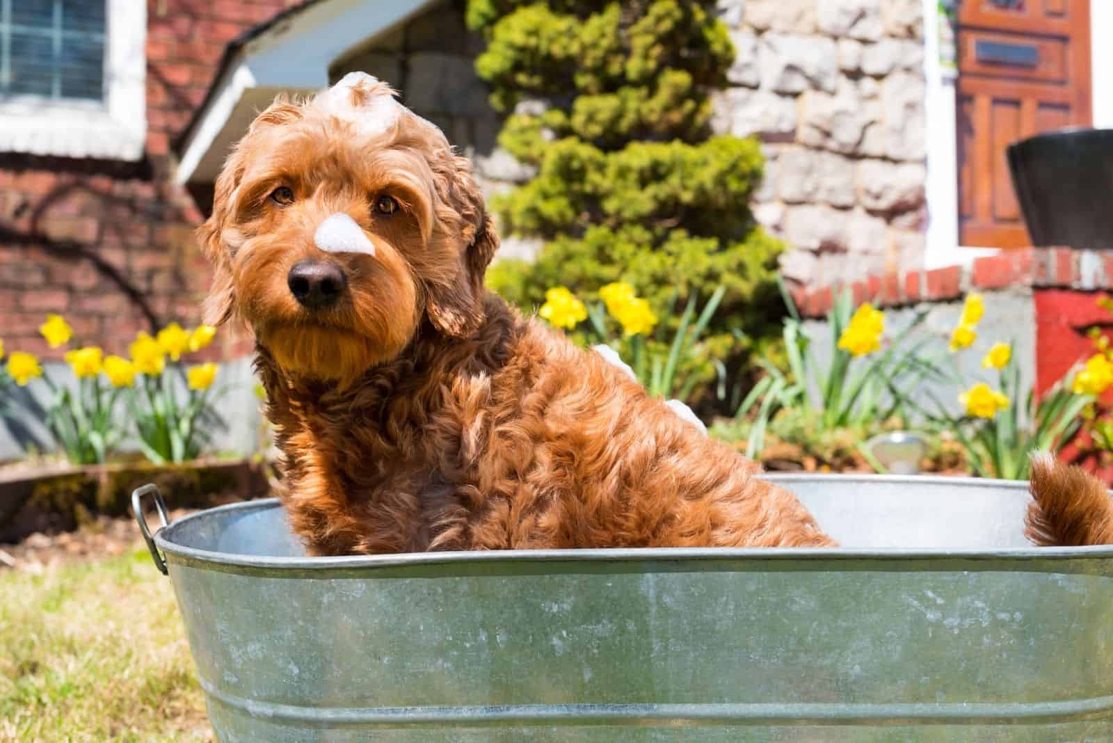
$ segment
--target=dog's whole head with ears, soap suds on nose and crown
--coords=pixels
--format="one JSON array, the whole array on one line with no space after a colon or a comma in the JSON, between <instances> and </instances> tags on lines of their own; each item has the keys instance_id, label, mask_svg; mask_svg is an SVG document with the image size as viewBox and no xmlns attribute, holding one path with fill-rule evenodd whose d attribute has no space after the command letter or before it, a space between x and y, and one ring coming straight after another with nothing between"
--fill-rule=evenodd
<instances>
[{"instance_id":1,"label":"dog's whole head with ears, soap suds on nose and crown","mask_svg":"<svg viewBox=\"0 0 1113 743\"><path fill-rule=\"evenodd\" d=\"M472 333L498 247L467 160L359 72L259 115L199 235L215 266L206 321L237 316L287 373L341 382L425 319Z\"/></svg>"}]
</instances>

